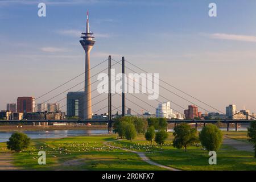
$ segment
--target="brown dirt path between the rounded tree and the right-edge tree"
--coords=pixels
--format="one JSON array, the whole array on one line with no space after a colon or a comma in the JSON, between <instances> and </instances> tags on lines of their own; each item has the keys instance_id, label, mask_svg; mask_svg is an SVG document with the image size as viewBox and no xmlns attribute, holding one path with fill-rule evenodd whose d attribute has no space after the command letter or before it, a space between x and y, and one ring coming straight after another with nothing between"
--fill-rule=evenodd
<instances>
[{"instance_id":1,"label":"brown dirt path between the rounded tree and the right-edge tree","mask_svg":"<svg viewBox=\"0 0 256 182\"><path fill-rule=\"evenodd\" d=\"M237 150L249 151L249 152L254 151L253 144L242 142L242 141L235 140L235 139L231 139L226 136L224 137L223 144L234 147Z\"/></svg>"}]
</instances>

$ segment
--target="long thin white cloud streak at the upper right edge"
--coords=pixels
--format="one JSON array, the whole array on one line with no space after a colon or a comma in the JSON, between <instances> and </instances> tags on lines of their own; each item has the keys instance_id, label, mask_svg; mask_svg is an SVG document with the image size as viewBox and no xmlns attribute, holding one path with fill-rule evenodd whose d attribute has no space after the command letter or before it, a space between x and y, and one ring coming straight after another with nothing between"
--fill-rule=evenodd
<instances>
[{"instance_id":1,"label":"long thin white cloud streak at the upper right edge","mask_svg":"<svg viewBox=\"0 0 256 182\"><path fill-rule=\"evenodd\" d=\"M244 42L256 42L256 36L249 35L235 35L235 34L210 34L210 38L222 40L237 40Z\"/></svg>"}]
</instances>

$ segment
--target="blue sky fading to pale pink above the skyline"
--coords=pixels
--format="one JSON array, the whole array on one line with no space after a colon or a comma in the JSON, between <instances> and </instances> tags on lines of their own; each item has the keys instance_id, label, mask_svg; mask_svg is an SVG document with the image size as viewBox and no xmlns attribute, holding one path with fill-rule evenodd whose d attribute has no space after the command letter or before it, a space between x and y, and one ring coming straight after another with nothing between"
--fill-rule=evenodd
<instances>
[{"instance_id":1,"label":"blue sky fading to pale pink above the skyline","mask_svg":"<svg viewBox=\"0 0 256 182\"><path fill-rule=\"evenodd\" d=\"M46 17L38 16L38 3L46 3ZM209 3L217 5L217 17L209 17ZM20 96L42 96L63 82L84 72L85 54L79 43L85 31L89 10L90 31L96 43L91 52L91 67L112 55L126 60L191 96L225 113L225 106L256 112L256 1L115 1L115 0L0 0L0 110ZM113 63L114 64L114 63ZM137 68L130 64L127 67ZM92 69L97 75L107 68L105 62ZM120 65L115 65L117 72ZM127 70L129 72L129 70ZM92 78L96 80L97 77ZM84 80L76 78L36 100L41 103ZM133 113L155 113L159 101L175 102L171 107L183 113L188 105L199 110L216 111L169 85L160 85L158 101L144 94L128 95L127 106ZM97 85L92 85L92 89ZM77 91L78 85L68 91ZM68 92L67 91L67 92ZM49 100L54 103L67 92ZM92 93L92 97L98 93ZM101 94L92 101L105 98ZM121 106L121 97L113 96L113 105ZM65 110L65 99L61 101ZM93 106L93 112L108 104ZM115 110L116 111L116 110ZM99 113L104 113L101 110ZM120 111L119 111L120 112Z\"/></svg>"}]
</instances>

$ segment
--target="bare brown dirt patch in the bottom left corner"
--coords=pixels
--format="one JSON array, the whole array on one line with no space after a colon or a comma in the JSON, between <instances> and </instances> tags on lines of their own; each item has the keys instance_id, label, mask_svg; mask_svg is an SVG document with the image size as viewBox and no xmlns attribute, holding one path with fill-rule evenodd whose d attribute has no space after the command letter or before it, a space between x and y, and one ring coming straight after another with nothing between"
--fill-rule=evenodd
<instances>
[{"instance_id":1,"label":"bare brown dirt patch in the bottom left corner","mask_svg":"<svg viewBox=\"0 0 256 182\"><path fill-rule=\"evenodd\" d=\"M13 165L13 155L0 153L0 170L11 171L18 170L19 168L14 167Z\"/></svg>"}]
</instances>

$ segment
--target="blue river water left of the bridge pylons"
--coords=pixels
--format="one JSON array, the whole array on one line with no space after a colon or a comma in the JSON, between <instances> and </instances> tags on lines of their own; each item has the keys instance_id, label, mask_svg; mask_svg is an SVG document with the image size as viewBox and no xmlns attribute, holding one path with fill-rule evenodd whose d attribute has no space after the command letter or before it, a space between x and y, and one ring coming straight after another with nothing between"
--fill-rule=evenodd
<instances>
[{"instance_id":1,"label":"blue river water left of the bridge pylons","mask_svg":"<svg viewBox=\"0 0 256 182\"><path fill-rule=\"evenodd\" d=\"M108 130L49 130L49 131L22 131L31 139L41 138L64 138L86 135L108 134ZM13 131L0 131L0 142L6 142L13 134Z\"/></svg>"}]
</instances>

